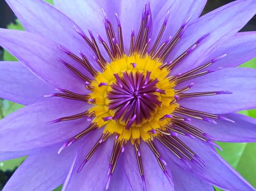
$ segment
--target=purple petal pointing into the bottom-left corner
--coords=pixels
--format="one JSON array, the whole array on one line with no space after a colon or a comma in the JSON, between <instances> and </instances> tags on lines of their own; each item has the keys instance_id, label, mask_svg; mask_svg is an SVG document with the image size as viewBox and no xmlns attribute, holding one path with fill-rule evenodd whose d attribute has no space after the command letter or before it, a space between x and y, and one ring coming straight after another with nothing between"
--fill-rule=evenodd
<instances>
[{"instance_id":1,"label":"purple petal pointing into the bottom-left corner","mask_svg":"<svg viewBox=\"0 0 256 191\"><path fill-rule=\"evenodd\" d=\"M77 146L57 154L59 146L32 152L3 190L53 190L62 184L75 158Z\"/></svg>"}]
</instances>

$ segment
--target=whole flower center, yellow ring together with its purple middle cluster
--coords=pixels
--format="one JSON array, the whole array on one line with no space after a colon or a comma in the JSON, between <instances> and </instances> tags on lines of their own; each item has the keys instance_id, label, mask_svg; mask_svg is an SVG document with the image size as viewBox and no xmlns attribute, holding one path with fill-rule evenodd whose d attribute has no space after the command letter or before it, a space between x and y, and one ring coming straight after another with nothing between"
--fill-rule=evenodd
<instances>
[{"instance_id":1,"label":"whole flower center, yellow ring together with its purple middle cluster","mask_svg":"<svg viewBox=\"0 0 256 191\"><path fill-rule=\"evenodd\" d=\"M107 64L91 83L90 103L95 106L89 112L95 112L93 122L127 140L147 140L160 130L177 106L169 104L175 99L173 83L169 83L169 72L161 65L139 53Z\"/></svg>"}]
</instances>

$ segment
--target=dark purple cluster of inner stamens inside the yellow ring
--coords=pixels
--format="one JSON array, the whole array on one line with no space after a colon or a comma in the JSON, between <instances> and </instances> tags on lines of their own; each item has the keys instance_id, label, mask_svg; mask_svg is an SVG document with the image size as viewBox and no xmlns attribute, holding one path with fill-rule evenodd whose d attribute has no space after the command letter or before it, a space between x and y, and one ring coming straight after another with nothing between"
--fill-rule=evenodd
<instances>
[{"instance_id":1,"label":"dark purple cluster of inner stamens inside the yellow ring","mask_svg":"<svg viewBox=\"0 0 256 191\"><path fill-rule=\"evenodd\" d=\"M157 79L150 79L150 72L146 75L139 71L125 71L120 77L115 74L116 82L107 92L108 108L115 112L113 120L127 124L126 129L133 123L139 125L149 120L157 106L161 106L156 94Z\"/></svg>"}]
</instances>

